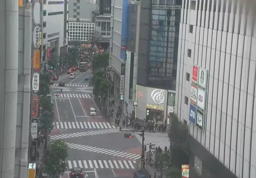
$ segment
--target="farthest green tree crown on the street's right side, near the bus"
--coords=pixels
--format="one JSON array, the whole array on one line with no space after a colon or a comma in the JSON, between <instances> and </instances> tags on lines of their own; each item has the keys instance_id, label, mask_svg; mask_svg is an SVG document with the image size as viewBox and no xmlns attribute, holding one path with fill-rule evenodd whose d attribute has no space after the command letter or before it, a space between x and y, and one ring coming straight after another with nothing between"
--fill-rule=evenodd
<instances>
[{"instance_id":1,"label":"farthest green tree crown on the street's right side, near the bus","mask_svg":"<svg viewBox=\"0 0 256 178\"><path fill-rule=\"evenodd\" d=\"M109 65L109 53L98 53L93 56L92 59L92 70L101 70L102 68L106 70L107 66Z\"/></svg>"}]
</instances>

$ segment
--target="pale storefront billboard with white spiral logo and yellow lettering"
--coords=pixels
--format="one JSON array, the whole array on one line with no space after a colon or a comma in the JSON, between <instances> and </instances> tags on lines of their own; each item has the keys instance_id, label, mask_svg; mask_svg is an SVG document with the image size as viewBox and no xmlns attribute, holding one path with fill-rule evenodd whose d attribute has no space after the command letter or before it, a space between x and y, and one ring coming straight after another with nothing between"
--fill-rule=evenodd
<instances>
[{"instance_id":1,"label":"pale storefront billboard with white spiral logo and yellow lettering","mask_svg":"<svg viewBox=\"0 0 256 178\"><path fill-rule=\"evenodd\" d=\"M154 109L159 111L166 111L167 94L165 89L155 89L150 87L136 86L136 117L139 119L146 118L146 109ZM166 112L164 117L166 118Z\"/></svg>"}]
</instances>

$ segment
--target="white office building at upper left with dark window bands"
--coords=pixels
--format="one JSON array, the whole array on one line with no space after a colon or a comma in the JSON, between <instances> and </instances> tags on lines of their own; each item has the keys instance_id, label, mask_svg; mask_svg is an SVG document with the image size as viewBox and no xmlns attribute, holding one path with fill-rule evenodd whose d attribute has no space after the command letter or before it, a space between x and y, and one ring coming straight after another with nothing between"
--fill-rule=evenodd
<instances>
[{"instance_id":1,"label":"white office building at upper left with dark window bands","mask_svg":"<svg viewBox=\"0 0 256 178\"><path fill-rule=\"evenodd\" d=\"M68 0L43 0L43 40L42 65L44 70L47 61L58 59L67 52ZM48 51L48 45L51 50ZM50 54L48 54L50 52Z\"/></svg>"}]
</instances>

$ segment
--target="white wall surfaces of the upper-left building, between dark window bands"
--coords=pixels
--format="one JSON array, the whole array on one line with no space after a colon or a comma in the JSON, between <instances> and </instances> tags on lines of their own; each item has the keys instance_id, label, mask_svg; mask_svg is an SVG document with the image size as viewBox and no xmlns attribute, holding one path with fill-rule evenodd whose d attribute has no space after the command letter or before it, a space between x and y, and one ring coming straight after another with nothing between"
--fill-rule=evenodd
<instances>
[{"instance_id":1,"label":"white wall surfaces of the upper-left building, between dark window bands","mask_svg":"<svg viewBox=\"0 0 256 178\"><path fill-rule=\"evenodd\" d=\"M60 48L64 45L67 45L67 40L64 40L64 15L68 17L66 12L64 12L64 3L62 4L48 4L50 1L56 1L56 0L47 0L46 4L43 4L43 10L46 10L46 16L43 16L43 21L46 22L46 27L43 29L43 33L46 33L46 38L43 39L43 45L47 46L47 42L58 39L58 56L60 55ZM64 0L58 0L63 1ZM68 6L67 6L68 10ZM59 15L50 15L48 16L48 13L51 12L64 12L63 14ZM68 18L67 18L68 19ZM68 28L67 28L68 29ZM48 35L51 34L58 34L53 37L49 37ZM46 47L47 49L47 47Z\"/></svg>"}]
</instances>

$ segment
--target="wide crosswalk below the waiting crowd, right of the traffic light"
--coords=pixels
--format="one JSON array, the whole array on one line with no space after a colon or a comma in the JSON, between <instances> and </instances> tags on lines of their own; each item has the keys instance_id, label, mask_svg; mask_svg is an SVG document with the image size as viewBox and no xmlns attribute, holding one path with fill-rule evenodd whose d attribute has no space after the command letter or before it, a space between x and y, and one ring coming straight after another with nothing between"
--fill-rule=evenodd
<instances>
[{"instance_id":1,"label":"wide crosswalk below the waiting crowd, right of the traffic light","mask_svg":"<svg viewBox=\"0 0 256 178\"><path fill-rule=\"evenodd\" d=\"M135 135L139 142L142 143L142 137L138 134ZM155 147L160 146L162 150L164 150L165 146L167 148L170 147L170 138L167 133L145 133L145 140L144 144L147 145L147 150L149 150L149 144L153 144L152 149L155 149Z\"/></svg>"}]
</instances>

